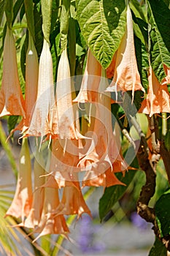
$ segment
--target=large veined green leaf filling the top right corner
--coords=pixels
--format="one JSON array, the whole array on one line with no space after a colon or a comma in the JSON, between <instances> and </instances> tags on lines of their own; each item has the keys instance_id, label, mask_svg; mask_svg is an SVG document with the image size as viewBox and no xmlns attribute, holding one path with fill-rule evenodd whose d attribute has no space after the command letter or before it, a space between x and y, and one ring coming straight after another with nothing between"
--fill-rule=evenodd
<instances>
[{"instance_id":1,"label":"large veined green leaf filling the top right corner","mask_svg":"<svg viewBox=\"0 0 170 256\"><path fill-rule=\"evenodd\" d=\"M159 82L165 78L163 64L170 67L170 10L163 1L147 0L150 23L150 61Z\"/></svg>"}]
</instances>

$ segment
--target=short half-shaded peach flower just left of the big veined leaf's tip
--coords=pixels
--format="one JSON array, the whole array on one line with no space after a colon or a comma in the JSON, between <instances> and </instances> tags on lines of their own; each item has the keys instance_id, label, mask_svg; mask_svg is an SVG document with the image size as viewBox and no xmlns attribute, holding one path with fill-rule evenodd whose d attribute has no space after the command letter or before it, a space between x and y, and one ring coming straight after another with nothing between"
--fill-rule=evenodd
<instances>
[{"instance_id":1,"label":"short half-shaded peach flower just left of the big veined leaf's tip","mask_svg":"<svg viewBox=\"0 0 170 256\"><path fill-rule=\"evenodd\" d=\"M80 92L74 102L96 102L100 78L101 64L99 64L89 48Z\"/></svg>"}]
</instances>

